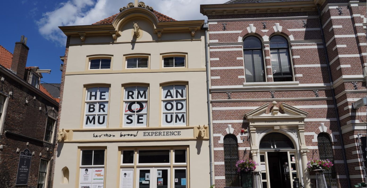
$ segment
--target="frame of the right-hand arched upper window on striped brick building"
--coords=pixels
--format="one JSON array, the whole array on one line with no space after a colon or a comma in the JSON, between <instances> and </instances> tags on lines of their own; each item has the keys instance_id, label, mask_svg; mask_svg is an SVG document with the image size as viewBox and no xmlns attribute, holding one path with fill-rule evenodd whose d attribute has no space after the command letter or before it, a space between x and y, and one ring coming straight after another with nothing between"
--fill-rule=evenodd
<instances>
[{"instance_id":1,"label":"frame of the right-hand arched upper window on striped brick building","mask_svg":"<svg viewBox=\"0 0 367 188\"><path fill-rule=\"evenodd\" d=\"M287 41L287 47L284 47L284 48L271 48L270 47L270 40L271 40L271 38L272 37L275 37L275 36L281 36L281 37L283 37L286 41ZM272 75L272 78L273 78L273 82L275 82L274 81L274 78L292 78L292 80L290 80L290 81L277 81L277 82L293 82L293 81L295 81L295 74L294 74L294 69L293 69L293 62L292 62L292 53L291 53L291 50L290 50L290 48L291 48L291 43L290 43L290 41L288 40L288 38L287 37L285 37L284 35L281 35L281 34L275 34L275 35L272 35L272 36L270 36L269 37L269 55L270 55L270 65L271 65L271 67L272 67L272 72L271 72L271 75ZM277 55L278 55L278 60L280 59L280 53L279 53L279 49L286 49L287 50L287 52L288 52L288 63L289 63L289 66L290 66L290 70L291 70L291 74L292 74L292 76L276 76L276 77L274 77L274 73L273 73L273 64L272 64L272 59L271 59L271 57L272 57L272 55L271 55L271 50L277 50ZM281 67L281 64L280 64L280 67ZM283 74L283 71L282 71L282 74Z\"/></svg>"}]
</instances>

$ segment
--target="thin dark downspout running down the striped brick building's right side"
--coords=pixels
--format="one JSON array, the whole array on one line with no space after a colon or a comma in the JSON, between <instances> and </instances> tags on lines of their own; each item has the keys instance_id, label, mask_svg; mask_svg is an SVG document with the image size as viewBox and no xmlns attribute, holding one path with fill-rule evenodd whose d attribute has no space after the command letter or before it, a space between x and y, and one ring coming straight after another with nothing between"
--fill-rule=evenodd
<instances>
[{"instance_id":1,"label":"thin dark downspout running down the striped brick building's right side","mask_svg":"<svg viewBox=\"0 0 367 188\"><path fill-rule=\"evenodd\" d=\"M339 136L340 136L340 144L342 145L342 154L343 154L344 168L345 168L345 173L346 173L346 181L347 181L347 184L348 184L348 188L350 188L350 178L349 178L348 163L346 162L345 148L344 148L344 140L343 140L343 135L342 135L342 128L341 128L341 125L340 125L339 112L338 112L338 106L337 106L337 99L335 98L335 90L334 90L334 87L332 85L333 79L331 77L331 69L330 69L330 64L329 64L329 57L328 57L327 50L326 50L326 43L325 43L324 31L323 31L322 23L321 23L321 12L320 12L320 5L319 4L317 4L317 12L319 12L319 25L320 25L322 43L324 45L324 53L325 53L325 59L326 59L327 73L329 75L329 81L330 81L330 84L331 84L331 94L333 95L335 116L337 117L337 123L338 123L338 129L339 129Z\"/></svg>"}]
</instances>

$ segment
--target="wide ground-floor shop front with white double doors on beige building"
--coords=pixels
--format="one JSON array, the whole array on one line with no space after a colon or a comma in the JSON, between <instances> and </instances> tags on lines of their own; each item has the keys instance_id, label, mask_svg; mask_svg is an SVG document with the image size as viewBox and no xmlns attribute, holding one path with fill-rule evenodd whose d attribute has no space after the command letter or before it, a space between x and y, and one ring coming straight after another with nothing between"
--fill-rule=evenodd
<instances>
[{"instance_id":1,"label":"wide ground-floor shop front with white double doors on beige building","mask_svg":"<svg viewBox=\"0 0 367 188\"><path fill-rule=\"evenodd\" d=\"M121 148L120 187L132 188L135 184L136 188L186 188L187 150Z\"/></svg>"}]
</instances>

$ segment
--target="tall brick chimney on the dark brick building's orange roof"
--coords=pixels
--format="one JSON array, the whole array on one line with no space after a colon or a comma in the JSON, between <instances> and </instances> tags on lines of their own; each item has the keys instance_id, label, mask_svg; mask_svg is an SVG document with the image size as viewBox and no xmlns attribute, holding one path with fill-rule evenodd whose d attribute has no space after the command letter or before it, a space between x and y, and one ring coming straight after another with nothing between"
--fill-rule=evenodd
<instances>
[{"instance_id":1,"label":"tall brick chimney on the dark brick building's orange roof","mask_svg":"<svg viewBox=\"0 0 367 188\"><path fill-rule=\"evenodd\" d=\"M28 57L28 46L27 38L22 35L20 42L15 42L14 52L13 52L13 60L11 62L11 70L16 72L17 76L20 78L24 77L25 73L25 65L27 63Z\"/></svg>"}]
</instances>

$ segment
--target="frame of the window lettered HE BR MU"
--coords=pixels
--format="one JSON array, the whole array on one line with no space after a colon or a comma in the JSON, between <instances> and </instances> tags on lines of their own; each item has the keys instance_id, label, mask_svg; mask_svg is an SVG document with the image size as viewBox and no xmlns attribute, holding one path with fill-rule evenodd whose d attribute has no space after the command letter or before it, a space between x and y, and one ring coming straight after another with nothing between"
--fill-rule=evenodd
<instances>
[{"instance_id":1,"label":"frame of the window lettered HE BR MU","mask_svg":"<svg viewBox=\"0 0 367 188\"><path fill-rule=\"evenodd\" d=\"M84 127L85 121L86 121L86 102L87 102L87 92L89 88L92 87L106 87L109 89L108 93L108 108L107 108L107 119L106 119L106 127ZM101 83L101 84L84 84L83 86L83 98L81 100L81 116L80 116L80 128L81 129L98 129L98 128L108 128L108 122L109 122L109 113L110 113L110 97L111 97L111 84ZM98 121L98 120L96 120Z\"/></svg>"}]
</instances>

